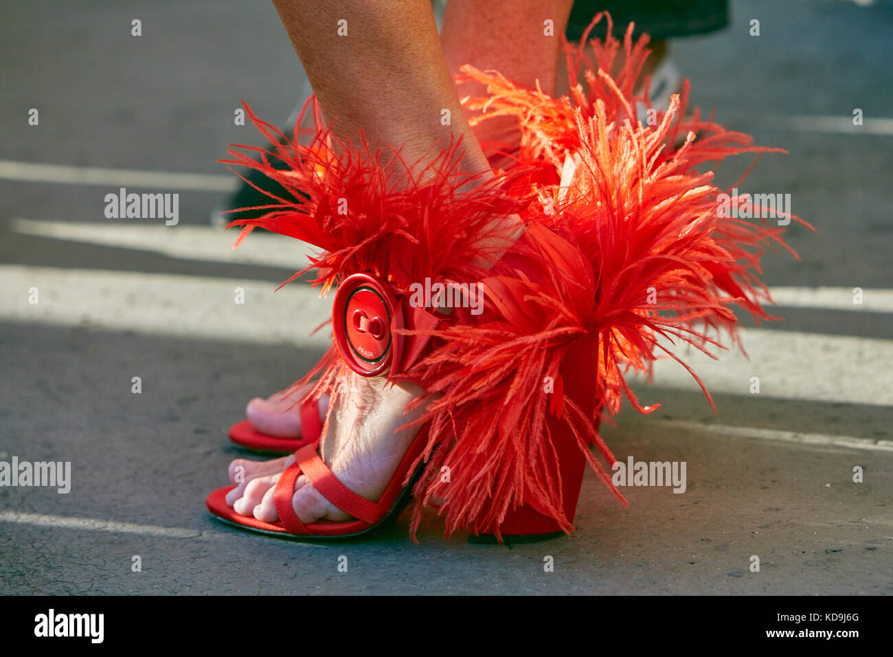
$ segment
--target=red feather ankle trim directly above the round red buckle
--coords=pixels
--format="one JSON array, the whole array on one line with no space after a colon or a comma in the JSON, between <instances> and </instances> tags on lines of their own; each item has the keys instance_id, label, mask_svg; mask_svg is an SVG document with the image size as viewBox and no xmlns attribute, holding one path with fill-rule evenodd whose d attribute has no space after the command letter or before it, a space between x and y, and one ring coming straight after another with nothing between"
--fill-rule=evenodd
<instances>
[{"instance_id":1,"label":"red feather ankle trim directly above the round red buckle","mask_svg":"<svg viewBox=\"0 0 893 657\"><path fill-rule=\"evenodd\" d=\"M311 105L318 114L315 100L309 100L297 122ZM221 162L264 173L288 190L291 198L262 190L271 198L270 205L239 210L269 212L255 219L237 219L228 227L243 226L236 246L260 227L322 249L286 282L314 268L319 275L313 283L322 285L323 292L342 274L355 272L385 278L397 290L426 277L480 280L487 272L486 264L496 259L494 248L482 242L480 235L485 229L493 230L489 224L495 217L517 214L530 203L530 196L518 198L504 190L517 189L513 180L518 173L495 177L461 171L458 141L419 162L406 163L399 150L371 152L365 142L355 146L335 138L321 122L312 143L301 146L258 119L248 105L245 108L255 126L279 145L275 151L235 145L249 154L230 149L232 159ZM252 151L260 162L250 156ZM279 160L285 169L271 160Z\"/></svg>"}]
</instances>

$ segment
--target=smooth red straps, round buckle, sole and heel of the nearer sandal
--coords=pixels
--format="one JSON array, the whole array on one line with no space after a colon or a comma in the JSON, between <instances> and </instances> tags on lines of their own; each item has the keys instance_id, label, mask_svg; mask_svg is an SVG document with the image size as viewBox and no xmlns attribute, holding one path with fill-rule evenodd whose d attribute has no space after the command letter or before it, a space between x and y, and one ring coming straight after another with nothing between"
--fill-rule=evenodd
<instances>
[{"instance_id":1,"label":"smooth red straps, round buckle, sole and heel of the nearer sandal","mask_svg":"<svg viewBox=\"0 0 893 657\"><path fill-rule=\"evenodd\" d=\"M522 274L517 264L512 269L516 274ZM536 274L526 271L523 275L530 284L530 279ZM498 285L491 283L492 290L499 290L505 277L499 281ZM511 286L505 286L502 290L511 291ZM398 294L388 283L369 274L353 274L339 285L332 308L333 331L344 364L354 372L364 376L388 375L391 379L412 380L412 376L406 373L413 366L421 367L420 360L426 352L430 352L430 342L437 340L438 331L448 324L443 317L424 308L410 307L406 296ZM492 291L492 294L497 292ZM514 317L524 324L519 313L523 314L529 308L523 307L523 297L509 297L493 299L493 305L501 308L506 318ZM596 377L584 371L580 362L591 360L595 353L595 341L591 339L569 342L558 372L559 381L562 382L559 383L559 394L567 395L568 399L576 398L580 413L590 418L594 416L597 400ZM473 376L473 373L469 375ZM415 383L424 382L415 380ZM568 389L573 391L572 396L563 392ZM580 447L580 438L573 433L566 418L553 413L547 417L547 425L555 458L547 464L546 478L560 482L559 517L555 517L554 503L551 506L540 504L536 495L523 495L523 499L530 497L531 501L516 504L500 520L480 528L474 527L472 540L531 541L568 531L580 494L586 458ZM423 456L429 442L430 423L425 423L378 501L365 500L338 481L321 459L317 451L318 443L313 443L296 451L294 463L276 484L274 499L279 521L270 523L238 514L226 503L226 495L234 486L212 493L208 497L207 507L224 522L267 535L302 539L362 535L380 525L398 508L399 502L409 491L411 481L421 474ZM320 521L309 525L301 523L291 503L296 479L301 474L305 474L327 500L355 519L346 522Z\"/></svg>"}]
</instances>

